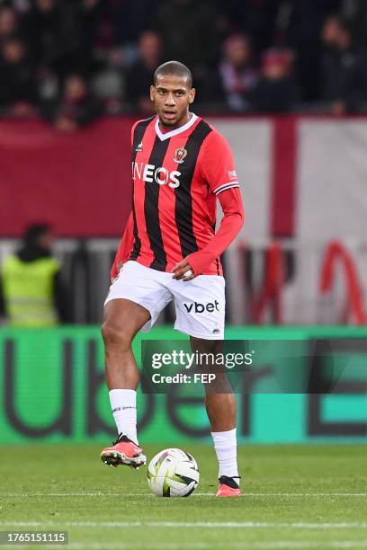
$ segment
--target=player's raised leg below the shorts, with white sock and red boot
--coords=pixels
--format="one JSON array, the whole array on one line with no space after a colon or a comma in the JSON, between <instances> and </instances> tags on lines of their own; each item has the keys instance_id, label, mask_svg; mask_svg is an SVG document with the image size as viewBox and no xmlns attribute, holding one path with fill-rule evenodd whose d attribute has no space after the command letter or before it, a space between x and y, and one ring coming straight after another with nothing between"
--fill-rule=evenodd
<instances>
[{"instance_id":1,"label":"player's raised leg below the shorts, with white sock and red boot","mask_svg":"<svg viewBox=\"0 0 367 550\"><path fill-rule=\"evenodd\" d=\"M139 370L131 343L149 319L145 307L124 298L113 299L104 308L105 376L119 434L112 447L102 451L101 458L108 466L139 467L146 461L138 446L136 389Z\"/></svg>"}]
</instances>

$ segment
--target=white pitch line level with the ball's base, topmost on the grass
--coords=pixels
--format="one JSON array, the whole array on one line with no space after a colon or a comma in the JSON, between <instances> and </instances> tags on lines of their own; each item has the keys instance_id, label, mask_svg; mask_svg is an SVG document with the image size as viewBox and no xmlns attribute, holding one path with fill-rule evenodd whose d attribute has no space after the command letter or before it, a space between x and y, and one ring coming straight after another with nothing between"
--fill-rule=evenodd
<instances>
[{"instance_id":1,"label":"white pitch line level with the ball's base, topmost on the grass","mask_svg":"<svg viewBox=\"0 0 367 550\"><path fill-rule=\"evenodd\" d=\"M214 496L214 492L194 492L192 497ZM40 498L40 497L103 497L104 499L125 497L153 497L148 492L0 492L0 498ZM244 497L290 497L290 498L318 498L344 497L366 498L367 492L244 492Z\"/></svg>"}]
</instances>

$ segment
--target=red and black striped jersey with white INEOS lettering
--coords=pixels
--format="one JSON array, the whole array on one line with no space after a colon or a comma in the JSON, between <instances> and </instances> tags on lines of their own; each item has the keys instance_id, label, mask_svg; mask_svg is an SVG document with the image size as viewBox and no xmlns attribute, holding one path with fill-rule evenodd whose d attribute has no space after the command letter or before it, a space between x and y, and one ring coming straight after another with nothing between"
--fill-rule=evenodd
<instances>
[{"instance_id":1,"label":"red and black striped jersey with white INEOS lettering","mask_svg":"<svg viewBox=\"0 0 367 550\"><path fill-rule=\"evenodd\" d=\"M132 216L119 252L125 260L172 271L210 244L221 193L236 191L230 207L236 209L235 202L242 210L233 155L226 139L194 114L184 126L166 132L157 117L139 120L131 137ZM203 274L222 274L219 253Z\"/></svg>"}]
</instances>

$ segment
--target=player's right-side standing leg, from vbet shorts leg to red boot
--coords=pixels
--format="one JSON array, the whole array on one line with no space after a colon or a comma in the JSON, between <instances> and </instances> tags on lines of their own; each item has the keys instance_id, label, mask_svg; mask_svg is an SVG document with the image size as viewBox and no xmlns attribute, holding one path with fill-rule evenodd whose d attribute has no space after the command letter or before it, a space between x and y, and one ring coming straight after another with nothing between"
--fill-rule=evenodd
<instances>
[{"instance_id":1,"label":"player's right-side standing leg, from vbet shorts leg to red boot","mask_svg":"<svg viewBox=\"0 0 367 550\"><path fill-rule=\"evenodd\" d=\"M193 350L206 353L222 351L224 287L223 277L211 275L200 275L187 282L175 280L171 284L175 296L175 328L191 336ZM238 496L236 400L226 373L218 373L218 368L216 370L220 376L210 384L210 388L206 386L205 404L219 461L217 495Z\"/></svg>"}]
</instances>

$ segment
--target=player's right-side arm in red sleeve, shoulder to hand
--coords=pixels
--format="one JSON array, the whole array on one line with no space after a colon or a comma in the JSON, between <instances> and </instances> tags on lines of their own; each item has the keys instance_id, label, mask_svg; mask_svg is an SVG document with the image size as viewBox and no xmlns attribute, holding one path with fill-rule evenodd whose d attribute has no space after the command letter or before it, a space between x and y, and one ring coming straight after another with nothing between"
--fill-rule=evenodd
<instances>
[{"instance_id":1,"label":"player's right-side arm in red sleeve, shoulder to hand","mask_svg":"<svg viewBox=\"0 0 367 550\"><path fill-rule=\"evenodd\" d=\"M190 280L203 271L223 253L244 224L244 207L232 152L227 140L213 131L198 159L203 179L208 182L223 210L219 230L203 249L189 254L174 268L174 278ZM192 275L184 276L191 270Z\"/></svg>"}]
</instances>

